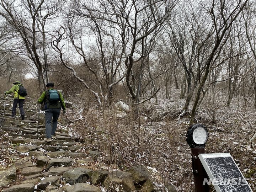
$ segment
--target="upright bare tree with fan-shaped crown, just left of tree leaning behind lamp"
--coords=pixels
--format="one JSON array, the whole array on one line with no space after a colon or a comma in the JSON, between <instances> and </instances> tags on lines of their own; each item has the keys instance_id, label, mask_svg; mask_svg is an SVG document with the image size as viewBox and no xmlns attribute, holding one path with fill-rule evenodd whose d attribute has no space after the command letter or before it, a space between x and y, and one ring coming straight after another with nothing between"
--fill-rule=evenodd
<instances>
[{"instance_id":1,"label":"upright bare tree with fan-shaped crown, just left of tree leaning behind lamp","mask_svg":"<svg viewBox=\"0 0 256 192\"><path fill-rule=\"evenodd\" d=\"M197 65L197 62L201 62L200 59L206 53L206 47L212 44L209 39L212 36L213 27L206 25L207 17L202 17L204 9L199 4L194 5L192 2L184 2L180 5L180 9L182 11L169 20L166 33L169 37L170 46L174 48L185 71L187 97L182 112L184 113L188 110L199 80L198 77L202 73L201 66L200 64Z\"/></svg>"}]
</instances>

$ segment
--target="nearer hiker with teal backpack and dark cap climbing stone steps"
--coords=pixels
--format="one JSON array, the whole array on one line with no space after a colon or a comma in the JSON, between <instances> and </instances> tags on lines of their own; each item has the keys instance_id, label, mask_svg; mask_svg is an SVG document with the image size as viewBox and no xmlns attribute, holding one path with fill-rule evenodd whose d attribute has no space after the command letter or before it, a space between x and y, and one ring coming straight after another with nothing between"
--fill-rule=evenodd
<instances>
[{"instance_id":1,"label":"nearer hiker with teal backpack and dark cap climbing stone steps","mask_svg":"<svg viewBox=\"0 0 256 192\"><path fill-rule=\"evenodd\" d=\"M46 84L47 90L38 98L38 103L44 102L45 105L44 116L46 122L46 138L44 138L44 141L46 142L51 142L52 139L55 139L54 135L57 129L61 108L63 109L63 113L66 113L64 98L61 92L53 89L53 86L54 83L48 82Z\"/></svg>"}]
</instances>

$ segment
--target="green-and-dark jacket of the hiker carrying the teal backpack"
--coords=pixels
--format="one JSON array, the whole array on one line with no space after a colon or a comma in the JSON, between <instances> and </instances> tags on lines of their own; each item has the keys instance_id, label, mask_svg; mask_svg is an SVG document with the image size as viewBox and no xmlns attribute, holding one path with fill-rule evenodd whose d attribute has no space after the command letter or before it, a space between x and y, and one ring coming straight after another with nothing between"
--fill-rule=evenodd
<instances>
[{"instance_id":1,"label":"green-and-dark jacket of the hiker carrying the teal backpack","mask_svg":"<svg viewBox=\"0 0 256 192\"><path fill-rule=\"evenodd\" d=\"M53 89L53 88L49 88L48 90L50 89ZM62 108L63 111L66 110L66 105L65 105L65 102L64 102L64 98L61 94L61 92L57 91L58 94L59 94L59 101L57 101L54 105L52 105L50 102L49 102L49 91L46 90L42 93L42 95L38 98L38 103L43 103L44 102L44 109L48 109L48 108Z\"/></svg>"}]
</instances>

